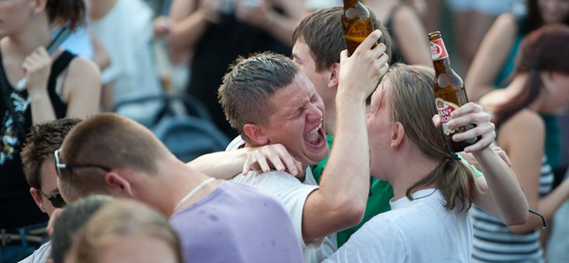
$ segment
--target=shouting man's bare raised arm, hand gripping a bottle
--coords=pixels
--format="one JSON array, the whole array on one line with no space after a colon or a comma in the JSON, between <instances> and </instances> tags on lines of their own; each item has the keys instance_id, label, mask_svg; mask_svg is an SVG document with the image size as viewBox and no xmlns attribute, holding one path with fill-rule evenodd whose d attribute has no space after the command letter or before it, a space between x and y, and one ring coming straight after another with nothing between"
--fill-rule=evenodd
<instances>
[{"instance_id":1,"label":"shouting man's bare raised arm, hand gripping a bottle","mask_svg":"<svg viewBox=\"0 0 569 263\"><path fill-rule=\"evenodd\" d=\"M381 36L374 31L348 58L341 53L336 95L336 137L319 190L304 205L302 236L319 239L361 222L369 190L366 97L388 70L385 45L371 49Z\"/></svg>"}]
</instances>

